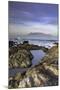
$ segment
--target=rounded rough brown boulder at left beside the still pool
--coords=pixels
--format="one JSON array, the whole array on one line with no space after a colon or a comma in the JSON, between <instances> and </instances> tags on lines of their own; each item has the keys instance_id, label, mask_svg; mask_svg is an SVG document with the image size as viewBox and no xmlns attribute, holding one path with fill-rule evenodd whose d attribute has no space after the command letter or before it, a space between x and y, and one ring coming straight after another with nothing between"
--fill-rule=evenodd
<instances>
[{"instance_id":1,"label":"rounded rough brown boulder at left beside the still pool","mask_svg":"<svg viewBox=\"0 0 60 90\"><path fill-rule=\"evenodd\" d=\"M26 68L31 66L32 64L32 54L30 51L27 50L19 50L14 55L10 55L9 57L9 68L13 67L20 67L20 68Z\"/></svg>"}]
</instances>

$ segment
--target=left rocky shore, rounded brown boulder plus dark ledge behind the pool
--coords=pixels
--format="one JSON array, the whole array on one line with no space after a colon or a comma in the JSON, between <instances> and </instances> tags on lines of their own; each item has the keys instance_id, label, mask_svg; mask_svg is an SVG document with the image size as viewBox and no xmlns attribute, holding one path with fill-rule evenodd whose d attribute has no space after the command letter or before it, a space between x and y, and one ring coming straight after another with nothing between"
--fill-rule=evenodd
<instances>
[{"instance_id":1,"label":"left rocky shore, rounded brown boulder plus dark ledge behind the pool","mask_svg":"<svg viewBox=\"0 0 60 90\"><path fill-rule=\"evenodd\" d=\"M9 48L9 68L26 68L32 65L34 58L30 50L48 51L48 48L43 46L23 43Z\"/></svg>"}]
</instances>

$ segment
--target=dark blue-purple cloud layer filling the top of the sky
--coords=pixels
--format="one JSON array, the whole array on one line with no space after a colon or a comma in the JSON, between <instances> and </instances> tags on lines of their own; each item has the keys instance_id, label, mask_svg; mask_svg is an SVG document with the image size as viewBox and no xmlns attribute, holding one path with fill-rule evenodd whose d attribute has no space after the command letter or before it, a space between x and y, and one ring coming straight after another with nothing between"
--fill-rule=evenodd
<instances>
[{"instance_id":1,"label":"dark blue-purple cloud layer filling the top of the sky","mask_svg":"<svg viewBox=\"0 0 60 90\"><path fill-rule=\"evenodd\" d=\"M9 23L26 25L25 22L57 25L58 4L9 2Z\"/></svg>"}]
</instances>

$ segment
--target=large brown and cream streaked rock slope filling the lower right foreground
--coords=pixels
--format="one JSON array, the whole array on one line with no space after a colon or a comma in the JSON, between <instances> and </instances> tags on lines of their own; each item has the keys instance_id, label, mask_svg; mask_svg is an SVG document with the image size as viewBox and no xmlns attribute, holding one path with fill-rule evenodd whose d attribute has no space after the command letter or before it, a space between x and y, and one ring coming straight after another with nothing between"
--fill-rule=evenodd
<instances>
[{"instance_id":1,"label":"large brown and cream streaked rock slope filling the lower right foreground","mask_svg":"<svg viewBox=\"0 0 60 90\"><path fill-rule=\"evenodd\" d=\"M54 46L48 50L40 64L21 74L23 77L20 77L19 82L16 81L15 86L22 88L58 85L58 63L56 62L58 62L58 47Z\"/></svg>"}]
</instances>

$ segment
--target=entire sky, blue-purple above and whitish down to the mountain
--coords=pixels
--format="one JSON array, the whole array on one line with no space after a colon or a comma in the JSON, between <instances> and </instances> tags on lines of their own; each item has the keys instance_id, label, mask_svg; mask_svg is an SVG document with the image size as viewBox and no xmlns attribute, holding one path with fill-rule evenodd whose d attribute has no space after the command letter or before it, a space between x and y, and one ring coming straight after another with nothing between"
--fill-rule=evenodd
<instances>
[{"instance_id":1,"label":"entire sky, blue-purple above and whitish down to the mountain","mask_svg":"<svg viewBox=\"0 0 60 90\"><path fill-rule=\"evenodd\" d=\"M58 34L58 5L9 1L9 34Z\"/></svg>"}]
</instances>

